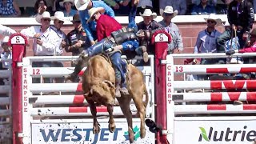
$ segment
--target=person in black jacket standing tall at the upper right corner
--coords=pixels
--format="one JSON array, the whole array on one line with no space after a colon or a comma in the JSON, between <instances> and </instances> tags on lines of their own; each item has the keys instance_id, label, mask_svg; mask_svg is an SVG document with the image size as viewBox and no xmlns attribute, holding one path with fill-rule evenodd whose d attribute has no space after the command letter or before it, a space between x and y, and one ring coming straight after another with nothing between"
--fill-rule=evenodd
<instances>
[{"instance_id":1,"label":"person in black jacket standing tall at the upper right corner","mask_svg":"<svg viewBox=\"0 0 256 144\"><path fill-rule=\"evenodd\" d=\"M225 42L231 38L231 35L234 35L234 30L237 30L240 48L245 46L254 24L254 8L248 0L234 0L230 3L227 19L231 30L224 31L217 39L218 53L225 53Z\"/></svg>"}]
</instances>

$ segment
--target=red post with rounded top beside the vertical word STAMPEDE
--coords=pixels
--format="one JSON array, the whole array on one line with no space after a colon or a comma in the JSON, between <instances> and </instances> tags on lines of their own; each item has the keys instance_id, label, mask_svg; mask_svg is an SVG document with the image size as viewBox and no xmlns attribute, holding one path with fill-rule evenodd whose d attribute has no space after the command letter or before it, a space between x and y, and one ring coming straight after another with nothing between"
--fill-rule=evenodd
<instances>
[{"instance_id":1,"label":"red post with rounded top beside the vertical word STAMPEDE","mask_svg":"<svg viewBox=\"0 0 256 144\"><path fill-rule=\"evenodd\" d=\"M12 125L13 144L22 144L22 58L26 54L26 37L22 34L13 34L9 39L9 46L12 46Z\"/></svg>"}]
</instances>

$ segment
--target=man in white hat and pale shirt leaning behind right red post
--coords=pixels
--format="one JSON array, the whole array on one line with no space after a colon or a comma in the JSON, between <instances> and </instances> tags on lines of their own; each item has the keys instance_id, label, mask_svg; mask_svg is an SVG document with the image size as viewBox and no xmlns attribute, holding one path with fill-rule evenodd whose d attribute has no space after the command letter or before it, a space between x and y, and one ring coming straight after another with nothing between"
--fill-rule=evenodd
<instances>
[{"instance_id":1,"label":"man in white hat and pale shirt leaning behind right red post","mask_svg":"<svg viewBox=\"0 0 256 144\"><path fill-rule=\"evenodd\" d=\"M178 26L171 22L171 19L178 14L177 10L174 10L172 6L166 6L162 14L162 21L159 24L166 28L166 31L171 35L171 42L168 44L168 54L173 54L174 49L180 53L183 50L182 36L179 33Z\"/></svg>"}]
</instances>

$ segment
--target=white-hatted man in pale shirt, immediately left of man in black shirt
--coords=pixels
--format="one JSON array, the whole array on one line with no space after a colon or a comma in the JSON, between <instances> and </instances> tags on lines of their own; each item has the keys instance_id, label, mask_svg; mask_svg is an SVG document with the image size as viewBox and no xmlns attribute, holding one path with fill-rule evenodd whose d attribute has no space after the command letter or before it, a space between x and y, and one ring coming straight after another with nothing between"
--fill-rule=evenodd
<instances>
[{"instance_id":1,"label":"white-hatted man in pale shirt, immediately left of man in black shirt","mask_svg":"<svg viewBox=\"0 0 256 144\"><path fill-rule=\"evenodd\" d=\"M63 48L66 46L66 34L61 30L64 22L65 17L64 13L62 11L56 11L54 14L54 17L51 17L52 20L54 20L54 26L50 26L52 30L55 31L55 33L58 35L58 45L55 50L55 55L61 56L63 53ZM53 67L63 67L62 62L52 62ZM55 78L56 83L62 83L64 82L64 78Z\"/></svg>"}]
</instances>

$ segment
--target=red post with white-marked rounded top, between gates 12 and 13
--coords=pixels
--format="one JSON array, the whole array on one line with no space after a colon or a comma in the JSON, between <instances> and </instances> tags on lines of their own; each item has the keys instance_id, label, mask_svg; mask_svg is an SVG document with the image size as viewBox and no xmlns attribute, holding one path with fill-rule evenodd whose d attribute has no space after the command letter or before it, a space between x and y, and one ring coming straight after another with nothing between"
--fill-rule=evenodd
<instances>
[{"instance_id":1,"label":"red post with white-marked rounded top, between gates 12 and 13","mask_svg":"<svg viewBox=\"0 0 256 144\"><path fill-rule=\"evenodd\" d=\"M155 101L156 106L156 124L162 126L162 131L166 131L166 64L162 65L161 61L166 60L168 43L170 42L170 34L164 30L156 31L151 39L155 48ZM157 143L169 143L166 134L162 131L157 134Z\"/></svg>"}]
</instances>

